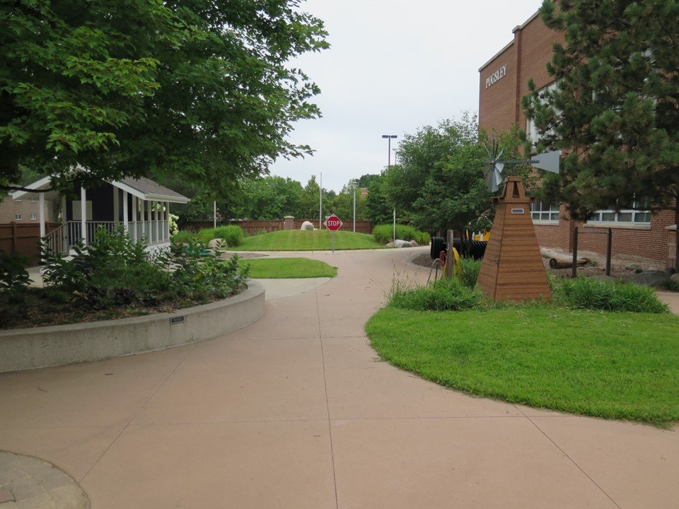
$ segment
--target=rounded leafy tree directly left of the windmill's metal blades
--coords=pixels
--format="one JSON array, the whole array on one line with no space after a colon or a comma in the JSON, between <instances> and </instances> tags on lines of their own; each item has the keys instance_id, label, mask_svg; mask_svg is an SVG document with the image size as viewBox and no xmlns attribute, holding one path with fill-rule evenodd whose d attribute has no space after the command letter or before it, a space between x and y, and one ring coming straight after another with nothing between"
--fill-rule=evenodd
<instances>
[{"instance_id":1,"label":"rounded leafy tree directly left of the windmill's metal blades","mask_svg":"<svg viewBox=\"0 0 679 509\"><path fill-rule=\"evenodd\" d=\"M483 180L488 155L475 115L406 134L397 154L399 164L385 172L385 189L400 216L407 214L429 232L478 227L491 194Z\"/></svg>"}]
</instances>

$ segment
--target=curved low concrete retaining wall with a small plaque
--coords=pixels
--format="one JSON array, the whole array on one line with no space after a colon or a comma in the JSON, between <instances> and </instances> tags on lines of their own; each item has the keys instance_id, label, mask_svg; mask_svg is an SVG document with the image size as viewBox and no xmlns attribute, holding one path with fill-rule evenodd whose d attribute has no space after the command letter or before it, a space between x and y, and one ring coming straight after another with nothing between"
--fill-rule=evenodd
<instances>
[{"instance_id":1,"label":"curved low concrete retaining wall with a small plaque","mask_svg":"<svg viewBox=\"0 0 679 509\"><path fill-rule=\"evenodd\" d=\"M0 331L0 373L100 361L213 339L264 315L265 289L216 303L134 318ZM176 322L176 323L173 323Z\"/></svg>"}]
</instances>

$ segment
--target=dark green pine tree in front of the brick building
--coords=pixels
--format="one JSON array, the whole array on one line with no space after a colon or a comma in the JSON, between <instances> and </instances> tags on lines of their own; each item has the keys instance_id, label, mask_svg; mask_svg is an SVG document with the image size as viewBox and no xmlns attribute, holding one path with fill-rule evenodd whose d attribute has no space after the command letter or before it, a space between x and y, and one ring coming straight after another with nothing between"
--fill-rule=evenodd
<instances>
[{"instance_id":1,"label":"dark green pine tree in front of the brick building","mask_svg":"<svg viewBox=\"0 0 679 509\"><path fill-rule=\"evenodd\" d=\"M540 12L565 36L547 65L557 86L529 83L523 98L538 150L567 153L545 197L581 220L642 199L654 210L674 202L679 221L679 2L544 1Z\"/></svg>"}]
</instances>

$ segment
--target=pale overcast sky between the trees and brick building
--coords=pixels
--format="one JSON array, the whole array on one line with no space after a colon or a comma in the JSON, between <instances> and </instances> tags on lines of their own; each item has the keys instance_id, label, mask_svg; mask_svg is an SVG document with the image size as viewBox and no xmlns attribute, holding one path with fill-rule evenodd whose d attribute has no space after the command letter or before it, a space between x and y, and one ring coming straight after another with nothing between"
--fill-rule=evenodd
<instances>
[{"instance_id":1,"label":"pale overcast sky between the trees and brick building","mask_svg":"<svg viewBox=\"0 0 679 509\"><path fill-rule=\"evenodd\" d=\"M272 175L306 185L311 175L339 192L379 173L404 134L479 107L479 68L513 40L541 0L308 0L330 49L291 64L320 86L323 117L295 124L290 140L316 152L277 160ZM391 162L394 162L392 152Z\"/></svg>"}]
</instances>

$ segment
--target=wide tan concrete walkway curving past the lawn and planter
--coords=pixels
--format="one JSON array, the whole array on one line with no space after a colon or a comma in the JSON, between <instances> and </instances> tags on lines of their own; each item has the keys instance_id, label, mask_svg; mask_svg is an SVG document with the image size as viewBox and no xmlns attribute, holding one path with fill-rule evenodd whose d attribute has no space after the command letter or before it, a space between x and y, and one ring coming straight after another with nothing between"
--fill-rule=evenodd
<instances>
[{"instance_id":1,"label":"wide tan concrete walkway curving past the lawn and planter","mask_svg":"<svg viewBox=\"0 0 679 509\"><path fill-rule=\"evenodd\" d=\"M468 397L379 361L364 322L395 271L428 273L405 255L304 253L337 278L226 337L0 375L0 449L57 465L95 509L678 507L676 428Z\"/></svg>"}]
</instances>

